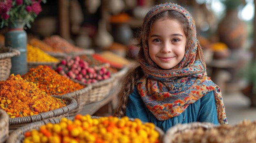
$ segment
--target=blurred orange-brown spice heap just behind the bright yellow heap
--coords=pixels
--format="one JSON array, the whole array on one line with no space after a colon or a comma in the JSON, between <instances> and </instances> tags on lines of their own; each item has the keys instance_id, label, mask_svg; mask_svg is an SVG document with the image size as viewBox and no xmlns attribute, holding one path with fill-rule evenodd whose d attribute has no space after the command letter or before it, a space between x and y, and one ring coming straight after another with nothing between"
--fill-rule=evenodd
<instances>
[{"instance_id":1,"label":"blurred orange-brown spice heap just behind the bright yellow heap","mask_svg":"<svg viewBox=\"0 0 256 143\"><path fill-rule=\"evenodd\" d=\"M38 47L45 52L52 52L52 53L62 53L63 52L61 49L53 48L52 46L49 46L45 42L43 42L39 39L36 39L36 38L32 38L31 40L29 40L29 44L31 44L32 46Z\"/></svg>"}]
</instances>

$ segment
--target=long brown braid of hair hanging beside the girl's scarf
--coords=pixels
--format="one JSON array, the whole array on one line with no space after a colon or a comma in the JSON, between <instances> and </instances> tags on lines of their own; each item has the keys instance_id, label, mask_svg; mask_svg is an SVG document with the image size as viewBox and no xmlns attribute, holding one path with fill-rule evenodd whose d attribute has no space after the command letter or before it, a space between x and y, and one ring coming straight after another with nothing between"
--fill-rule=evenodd
<instances>
[{"instance_id":1,"label":"long brown braid of hair hanging beside the girl's scarf","mask_svg":"<svg viewBox=\"0 0 256 143\"><path fill-rule=\"evenodd\" d=\"M140 66L132 68L128 71L126 77L121 82L121 90L118 93L118 105L113 116L124 117L126 112L126 104L128 103L128 95L133 92L135 81L143 77L143 70Z\"/></svg>"}]
</instances>

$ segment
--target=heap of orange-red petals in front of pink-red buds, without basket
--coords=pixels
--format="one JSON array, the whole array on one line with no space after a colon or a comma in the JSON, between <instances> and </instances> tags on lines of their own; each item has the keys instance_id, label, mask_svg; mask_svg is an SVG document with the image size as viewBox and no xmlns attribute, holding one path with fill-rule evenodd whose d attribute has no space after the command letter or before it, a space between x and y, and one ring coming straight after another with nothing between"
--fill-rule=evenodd
<instances>
[{"instance_id":1,"label":"heap of orange-red petals in front of pink-red buds, without basket","mask_svg":"<svg viewBox=\"0 0 256 143\"><path fill-rule=\"evenodd\" d=\"M22 77L27 79L27 81L34 82L38 88L48 95L64 95L85 88L85 86L59 75L56 71L45 65L31 68Z\"/></svg>"}]
</instances>

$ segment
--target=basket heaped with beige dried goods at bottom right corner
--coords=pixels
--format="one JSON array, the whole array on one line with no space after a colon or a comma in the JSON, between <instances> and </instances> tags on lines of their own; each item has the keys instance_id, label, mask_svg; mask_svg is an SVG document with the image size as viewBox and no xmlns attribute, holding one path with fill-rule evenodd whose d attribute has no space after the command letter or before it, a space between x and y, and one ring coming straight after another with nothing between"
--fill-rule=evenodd
<instances>
[{"instance_id":1,"label":"basket heaped with beige dried goods at bottom right corner","mask_svg":"<svg viewBox=\"0 0 256 143\"><path fill-rule=\"evenodd\" d=\"M189 123L169 129L164 143L256 143L255 133L256 121L244 120L237 125L217 126Z\"/></svg>"}]
</instances>

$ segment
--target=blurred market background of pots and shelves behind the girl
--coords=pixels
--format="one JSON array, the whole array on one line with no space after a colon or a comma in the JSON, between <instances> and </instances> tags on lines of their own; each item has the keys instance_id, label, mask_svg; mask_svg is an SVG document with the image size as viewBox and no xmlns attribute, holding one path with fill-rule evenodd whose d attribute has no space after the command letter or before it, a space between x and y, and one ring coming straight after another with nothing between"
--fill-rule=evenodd
<instances>
[{"instance_id":1,"label":"blurred market background of pots and shelves behind the girl","mask_svg":"<svg viewBox=\"0 0 256 143\"><path fill-rule=\"evenodd\" d=\"M59 35L70 43L112 51L133 61L146 12L173 2L194 17L207 73L220 86L230 124L256 119L256 46L254 0L47 0L25 29L40 40ZM0 45L7 27L0 29Z\"/></svg>"}]
</instances>

